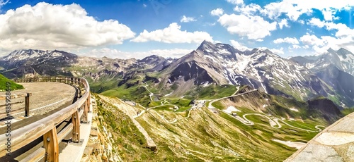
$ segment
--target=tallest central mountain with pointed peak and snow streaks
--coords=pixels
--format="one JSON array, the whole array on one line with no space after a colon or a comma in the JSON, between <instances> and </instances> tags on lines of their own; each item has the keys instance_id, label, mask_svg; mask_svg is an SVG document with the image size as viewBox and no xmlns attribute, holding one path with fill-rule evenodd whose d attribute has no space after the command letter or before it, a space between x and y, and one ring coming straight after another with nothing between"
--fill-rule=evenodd
<instances>
[{"instance_id":1,"label":"tallest central mountain with pointed peak and snow streaks","mask_svg":"<svg viewBox=\"0 0 354 162\"><path fill-rule=\"evenodd\" d=\"M184 82L193 80L195 85L249 85L269 94L297 99L330 93L324 82L307 68L281 58L268 49L239 51L229 44L206 41L162 73L170 74L171 84L183 78Z\"/></svg>"}]
</instances>

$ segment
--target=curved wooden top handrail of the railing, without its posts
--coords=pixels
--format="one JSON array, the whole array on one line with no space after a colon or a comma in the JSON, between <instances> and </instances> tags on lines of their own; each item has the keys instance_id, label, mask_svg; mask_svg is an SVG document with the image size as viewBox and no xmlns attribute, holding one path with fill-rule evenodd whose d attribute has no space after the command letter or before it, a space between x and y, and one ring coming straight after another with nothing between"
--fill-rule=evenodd
<instances>
[{"instance_id":1,"label":"curved wooden top handrail of the railing, without its posts","mask_svg":"<svg viewBox=\"0 0 354 162\"><path fill-rule=\"evenodd\" d=\"M81 96L74 104L62 108L61 110L53 113L50 116L42 118L34 123L30 123L16 130L11 130L11 152L25 147L38 137L46 135L47 132L55 130L56 126L62 123L69 117L72 117L74 113L77 113L81 107L89 106L90 103L90 86L87 80L77 77L37 77L15 80L16 82L63 82L83 85L85 87L85 94ZM86 111L87 108L84 108ZM87 113L87 112L86 112ZM80 118L80 116L78 116ZM85 117L86 118L86 117ZM55 130L56 131L56 130ZM53 131L53 132L55 132ZM60 139L61 140L61 139ZM6 156L6 142L8 137L6 133L0 135L0 157ZM57 141L58 142L58 141ZM60 141L59 141L60 142Z\"/></svg>"}]
</instances>

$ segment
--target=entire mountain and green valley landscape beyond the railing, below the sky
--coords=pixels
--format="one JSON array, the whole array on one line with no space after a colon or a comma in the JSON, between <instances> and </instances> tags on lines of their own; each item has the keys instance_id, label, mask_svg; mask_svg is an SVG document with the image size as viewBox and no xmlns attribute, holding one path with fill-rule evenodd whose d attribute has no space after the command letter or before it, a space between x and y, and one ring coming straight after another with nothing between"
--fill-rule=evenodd
<instances>
[{"instance_id":1,"label":"entire mountain and green valley landscape beyond the railing, below the sky","mask_svg":"<svg viewBox=\"0 0 354 162\"><path fill-rule=\"evenodd\" d=\"M105 156L122 161L283 161L354 107L346 49L282 58L204 41L181 58L143 59L24 49L0 58L0 73L86 78Z\"/></svg>"}]
</instances>

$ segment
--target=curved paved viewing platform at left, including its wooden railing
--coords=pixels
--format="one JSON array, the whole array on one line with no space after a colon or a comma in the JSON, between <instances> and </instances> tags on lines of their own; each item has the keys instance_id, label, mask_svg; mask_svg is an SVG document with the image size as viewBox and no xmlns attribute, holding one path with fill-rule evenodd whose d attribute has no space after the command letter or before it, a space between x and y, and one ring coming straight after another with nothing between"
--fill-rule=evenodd
<instances>
[{"instance_id":1,"label":"curved paved viewing platform at left, including its wooden railing","mask_svg":"<svg viewBox=\"0 0 354 162\"><path fill-rule=\"evenodd\" d=\"M11 118L2 114L8 95L0 92L0 161L80 161L91 131L89 83L62 76L16 82L25 89L11 91Z\"/></svg>"}]
</instances>

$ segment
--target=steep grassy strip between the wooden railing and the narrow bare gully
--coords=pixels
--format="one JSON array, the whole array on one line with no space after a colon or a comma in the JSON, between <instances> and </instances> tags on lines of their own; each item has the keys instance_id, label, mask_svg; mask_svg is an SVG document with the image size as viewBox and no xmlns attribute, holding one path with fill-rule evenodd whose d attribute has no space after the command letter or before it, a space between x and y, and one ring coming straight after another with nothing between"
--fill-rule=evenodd
<instances>
[{"instance_id":1,"label":"steep grassy strip between the wooden railing and the narrow bare gully","mask_svg":"<svg viewBox=\"0 0 354 162\"><path fill-rule=\"evenodd\" d=\"M105 125L106 129L112 133L113 153L119 154L125 161L152 161L154 152L144 148L147 144L144 135L137 130L129 117L118 109L110 110L114 107L113 105L102 101L97 95L95 97L98 116L103 117L99 118L101 123L99 129L103 131L103 125Z\"/></svg>"}]
</instances>

